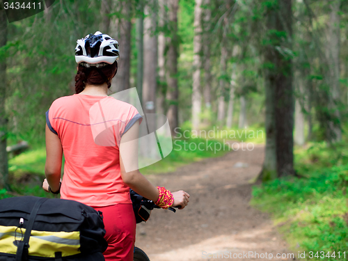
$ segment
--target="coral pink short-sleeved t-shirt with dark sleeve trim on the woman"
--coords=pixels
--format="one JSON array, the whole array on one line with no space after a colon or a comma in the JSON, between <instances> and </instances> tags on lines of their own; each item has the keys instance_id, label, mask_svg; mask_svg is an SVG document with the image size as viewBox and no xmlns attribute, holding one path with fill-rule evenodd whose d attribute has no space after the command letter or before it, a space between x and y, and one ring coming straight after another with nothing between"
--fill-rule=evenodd
<instances>
[{"instance_id":1,"label":"coral pink short-sleeved t-shirt with dark sleeve trim on the woman","mask_svg":"<svg viewBox=\"0 0 348 261\"><path fill-rule=\"evenodd\" d=\"M46 122L65 157L61 198L92 207L132 203L122 181L122 134L142 117L134 106L109 96L71 95L52 103Z\"/></svg>"}]
</instances>

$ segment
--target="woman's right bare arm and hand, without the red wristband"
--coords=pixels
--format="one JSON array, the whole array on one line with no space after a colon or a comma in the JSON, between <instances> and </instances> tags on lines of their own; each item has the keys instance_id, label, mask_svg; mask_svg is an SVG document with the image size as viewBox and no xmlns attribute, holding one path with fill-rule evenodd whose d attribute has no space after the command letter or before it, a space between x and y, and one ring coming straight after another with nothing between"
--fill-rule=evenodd
<instances>
[{"instance_id":1,"label":"woman's right bare arm and hand, without the red wristband","mask_svg":"<svg viewBox=\"0 0 348 261\"><path fill-rule=\"evenodd\" d=\"M157 187L152 185L138 169L138 139L139 121L123 134L120 142L120 168L122 180L128 187L136 191L136 193L156 202L159 198ZM125 164L127 165L125 166ZM127 169L134 171L127 171ZM189 203L189 194L184 191L176 191L173 193L173 196L173 205L180 205L180 209L183 209L187 203Z\"/></svg>"}]
</instances>

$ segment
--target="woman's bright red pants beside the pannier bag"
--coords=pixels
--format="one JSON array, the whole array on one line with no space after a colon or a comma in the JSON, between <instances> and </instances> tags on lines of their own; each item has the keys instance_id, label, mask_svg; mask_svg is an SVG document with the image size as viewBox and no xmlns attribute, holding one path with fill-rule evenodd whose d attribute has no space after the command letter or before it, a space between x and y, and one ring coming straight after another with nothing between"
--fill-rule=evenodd
<instances>
[{"instance_id":1,"label":"woman's bright red pants beside the pannier bag","mask_svg":"<svg viewBox=\"0 0 348 261\"><path fill-rule=\"evenodd\" d=\"M103 212L108 248L105 261L133 261L136 221L132 204L93 207Z\"/></svg>"}]
</instances>

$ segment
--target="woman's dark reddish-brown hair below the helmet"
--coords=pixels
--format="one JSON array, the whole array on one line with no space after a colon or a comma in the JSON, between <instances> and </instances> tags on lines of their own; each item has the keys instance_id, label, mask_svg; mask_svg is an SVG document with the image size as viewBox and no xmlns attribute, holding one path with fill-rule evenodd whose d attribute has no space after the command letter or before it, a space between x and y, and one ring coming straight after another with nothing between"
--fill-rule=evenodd
<instances>
[{"instance_id":1,"label":"woman's dark reddish-brown hair below the helmet","mask_svg":"<svg viewBox=\"0 0 348 261\"><path fill-rule=\"evenodd\" d=\"M86 84L95 84L100 85L104 84L105 79L102 75L97 72L100 70L106 77L111 81L113 77L115 77L117 72L117 62L106 65L103 68L97 69L95 67L85 68L84 66L79 64L79 68L77 70L77 74L75 76L75 92L81 93L84 90Z\"/></svg>"}]
</instances>

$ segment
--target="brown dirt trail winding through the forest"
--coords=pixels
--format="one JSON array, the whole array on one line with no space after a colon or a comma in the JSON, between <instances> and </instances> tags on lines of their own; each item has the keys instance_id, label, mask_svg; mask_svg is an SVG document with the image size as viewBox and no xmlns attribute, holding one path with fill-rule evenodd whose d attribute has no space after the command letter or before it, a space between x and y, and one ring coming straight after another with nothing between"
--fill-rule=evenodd
<instances>
[{"instance_id":1,"label":"brown dirt trail winding through the forest","mask_svg":"<svg viewBox=\"0 0 348 261\"><path fill-rule=\"evenodd\" d=\"M153 184L187 191L190 203L176 213L152 211L150 220L137 226L136 246L151 261L265 260L270 254L271 260L293 260L269 216L249 205L248 181L258 175L263 159L264 146L255 145L175 173L150 175Z\"/></svg>"}]
</instances>

